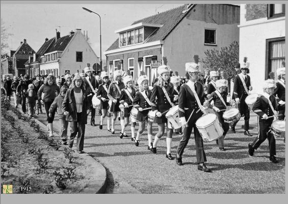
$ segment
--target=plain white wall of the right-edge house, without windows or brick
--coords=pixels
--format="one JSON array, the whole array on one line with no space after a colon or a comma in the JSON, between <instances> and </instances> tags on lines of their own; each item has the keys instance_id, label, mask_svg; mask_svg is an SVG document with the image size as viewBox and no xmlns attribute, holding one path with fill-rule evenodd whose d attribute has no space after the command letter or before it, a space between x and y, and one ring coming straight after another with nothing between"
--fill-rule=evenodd
<instances>
[{"instance_id":1,"label":"plain white wall of the right-edge house, without windows or brick","mask_svg":"<svg viewBox=\"0 0 288 204\"><path fill-rule=\"evenodd\" d=\"M245 13L244 5L241 5L241 13ZM254 23L253 23L254 22ZM255 93L262 93L261 86L265 79L266 70L266 39L285 36L285 17L267 20L245 21L240 24L240 52L242 60L248 57L250 62L250 77Z\"/></svg>"}]
</instances>

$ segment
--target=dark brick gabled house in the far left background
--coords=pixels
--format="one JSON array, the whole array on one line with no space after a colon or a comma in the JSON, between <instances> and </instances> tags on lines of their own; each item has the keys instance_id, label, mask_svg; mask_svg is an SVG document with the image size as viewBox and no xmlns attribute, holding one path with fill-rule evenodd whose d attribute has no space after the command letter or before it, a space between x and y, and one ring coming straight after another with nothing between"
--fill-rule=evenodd
<instances>
[{"instance_id":1,"label":"dark brick gabled house in the far left background","mask_svg":"<svg viewBox=\"0 0 288 204\"><path fill-rule=\"evenodd\" d=\"M20 74L27 73L25 71L25 63L29 60L29 56L35 53L34 49L27 43L27 40L24 39L24 42L20 42L20 46L16 49L13 54L13 70L16 76Z\"/></svg>"}]
</instances>

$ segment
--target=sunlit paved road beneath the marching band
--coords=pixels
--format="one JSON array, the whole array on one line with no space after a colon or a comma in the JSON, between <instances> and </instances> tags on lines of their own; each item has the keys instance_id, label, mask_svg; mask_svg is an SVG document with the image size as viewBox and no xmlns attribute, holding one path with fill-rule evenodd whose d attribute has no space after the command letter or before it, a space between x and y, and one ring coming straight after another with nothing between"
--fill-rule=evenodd
<instances>
[{"instance_id":1,"label":"sunlit paved road beneath the marching band","mask_svg":"<svg viewBox=\"0 0 288 204\"><path fill-rule=\"evenodd\" d=\"M44 114L36 117L46 123ZM99 122L99 118L96 110L96 123ZM285 191L285 144L282 141L277 142L277 156L281 161L279 164L269 162L267 140L255 152L254 157L248 155L247 145L257 134L256 119L256 115L251 113L250 132L254 137L247 137L243 135L244 120L241 118L236 126L238 133L228 132L225 138L228 148L225 152L220 151L215 142L204 143L207 166L212 168L213 173L197 170L193 137L184 152L185 165L179 167L175 160L170 161L165 158L166 137L160 140L158 154L154 155L147 150L146 136L141 138L138 147L130 138L120 139L118 120L115 131L117 134L112 135L106 130L106 125L103 125L103 130L99 130L98 125L91 126L89 116L84 151L106 167L110 180L107 193L283 193ZM54 121L56 131L59 124L57 121L56 118ZM156 124L153 124L153 133L156 132ZM129 135L130 131L126 130L126 133ZM174 135L173 156L179 141L180 135ZM226 174L230 177L225 177ZM214 190L207 185L219 185L220 188ZM224 192L221 191L221 187Z\"/></svg>"}]
</instances>

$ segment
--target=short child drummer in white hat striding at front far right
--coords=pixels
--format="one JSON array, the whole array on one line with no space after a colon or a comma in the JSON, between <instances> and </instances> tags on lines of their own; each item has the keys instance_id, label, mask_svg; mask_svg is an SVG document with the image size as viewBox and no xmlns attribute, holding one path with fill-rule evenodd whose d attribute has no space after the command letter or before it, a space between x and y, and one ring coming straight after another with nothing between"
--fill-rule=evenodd
<instances>
[{"instance_id":1,"label":"short child drummer in white hat striding at front far right","mask_svg":"<svg viewBox=\"0 0 288 204\"><path fill-rule=\"evenodd\" d=\"M258 115L258 136L253 143L248 144L248 152L250 156L254 155L255 149L257 149L261 143L267 138L269 142L270 161L278 163L276 159L276 142L274 136L270 132L270 127L276 116L276 111L280 111L285 106L279 106L279 98L275 98L273 95L276 84L274 80L268 79L263 85L264 93L257 98L252 110ZM272 117L271 117L272 116Z\"/></svg>"}]
</instances>

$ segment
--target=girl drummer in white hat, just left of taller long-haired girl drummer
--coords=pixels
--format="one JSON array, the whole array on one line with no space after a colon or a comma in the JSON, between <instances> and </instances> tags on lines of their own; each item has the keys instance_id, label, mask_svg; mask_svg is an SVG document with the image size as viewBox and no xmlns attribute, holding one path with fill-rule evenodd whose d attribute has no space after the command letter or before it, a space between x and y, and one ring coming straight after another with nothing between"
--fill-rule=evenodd
<instances>
[{"instance_id":1,"label":"girl drummer in white hat, just left of taller long-haired girl drummer","mask_svg":"<svg viewBox=\"0 0 288 204\"><path fill-rule=\"evenodd\" d=\"M145 121L147 121L148 150L150 150L152 148L152 122L148 120L148 112L151 110L149 108L151 107L150 97L152 92L149 90L149 80L146 75L141 75L137 84L139 85L139 91L133 100L133 106L138 109L136 119L139 121L139 130L135 138L135 145L139 145L139 138L145 130Z\"/></svg>"}]
</instances>

